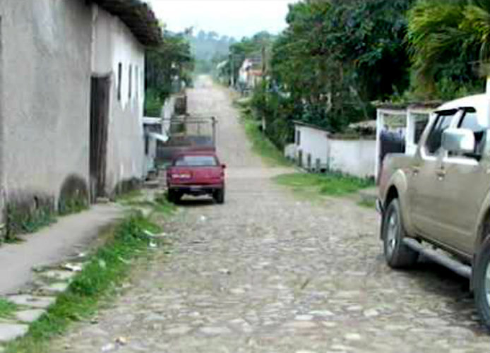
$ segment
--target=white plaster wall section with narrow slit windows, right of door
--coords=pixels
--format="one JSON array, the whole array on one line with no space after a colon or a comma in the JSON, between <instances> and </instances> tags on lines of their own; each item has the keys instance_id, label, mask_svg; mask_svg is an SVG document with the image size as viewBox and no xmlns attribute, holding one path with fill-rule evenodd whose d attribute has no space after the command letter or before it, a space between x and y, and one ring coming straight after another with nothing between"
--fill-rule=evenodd
<instances>
[{"instance_id":1,"label":"white plaster wall section with narrow slit windows, right of door","mask_svg":"<svg viewBox=\"0 0 490 353\"><path fill-rule=\"evenodd\" d=\"M92 73L95 76L111 77L106 186L107 192L112 193L114 187L121 181L141 179L145 171L143 136L145 50L119 18L97 6L94 7L92 21L94 25ZM119 64L122 66L120 83ZM121 85L120 100L118 99L119 85Z\"/></svg>"}]
</instances>

